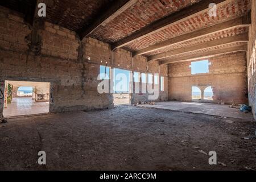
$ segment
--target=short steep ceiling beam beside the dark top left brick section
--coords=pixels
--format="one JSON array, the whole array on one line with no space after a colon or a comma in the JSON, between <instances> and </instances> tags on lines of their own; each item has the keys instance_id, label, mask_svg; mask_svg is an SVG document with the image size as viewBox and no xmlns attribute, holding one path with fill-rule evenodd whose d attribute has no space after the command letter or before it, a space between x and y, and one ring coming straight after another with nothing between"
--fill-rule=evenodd
<instances>
[{"instance_id":1,"label":"short steep ceiling beam beside the dark top left brick section","mask_svg":"<svg viewBox=\"0 0 256 182\"><path fill-rule=\"evenodd\" d=\"M138 0L118 0L114 1L114 4L109 7L109 9L101 14L98 18L95 18L95 21L84 30L81 31L80 38L83 39L86 36L92 34L100 26L105 26L111 20L116 18L119 14L123 13L123 11L129 9L132 5L134 5Z\"/></svg>"}]
</instances>

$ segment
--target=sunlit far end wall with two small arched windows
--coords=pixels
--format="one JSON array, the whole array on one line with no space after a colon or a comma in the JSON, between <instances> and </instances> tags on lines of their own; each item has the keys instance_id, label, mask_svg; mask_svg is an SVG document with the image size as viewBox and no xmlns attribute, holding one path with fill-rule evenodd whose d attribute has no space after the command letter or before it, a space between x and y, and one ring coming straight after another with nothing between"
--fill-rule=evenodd
<instances>
[{"instance_id":1,"label":"sunlit far end wall with two small arched windows","mask_svg":"<svg viewBox=\"0 0 256 182\"><path fill-rule=\"evenodd\" d=\"M191 75L191 61L169 64L170 100L192 101L192 86L212 86L213 102L247 103L246 53L212 57L209 73Z\"/></svg>"}]
</instances>

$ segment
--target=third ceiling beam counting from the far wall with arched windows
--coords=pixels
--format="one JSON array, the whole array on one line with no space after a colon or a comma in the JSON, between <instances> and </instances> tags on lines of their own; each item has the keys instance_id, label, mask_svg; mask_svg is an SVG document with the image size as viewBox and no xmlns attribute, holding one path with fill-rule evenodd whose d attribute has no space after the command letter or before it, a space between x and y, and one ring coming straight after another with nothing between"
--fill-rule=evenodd
<instances>
[{"instance_id":1,"label":"third ceiling beam counting from the far wall with arched windows","mask_svg":"<svg viewBox=\"0 0 256 182\"><path fill-rule=\"evenodd\" d=\"M225 31L225 30L229 30L229 29L233 29L233 28L239 28L239 27L248 27L248 26L250 26L250 17L243 16L241 18L232 19L232 20L229 20L229 21L224 22L224 23L216 24L214 26L203 28L201 30L197 30L197 31L194 31L194 32L189 32L188 34L180 35L180 36L177 36L175 38L166 40L164 42L157 43L153 46L150 46L150 47L141 49L137 52L134 52L133 56L143 55L144 53L157 51L159 49L166 48L166 47L171 46L173 44L177 44L177 43L181 43L181 42L184 42L184 41L187 41L187 40L200 38L200 37L207 36L207 35L210 35L210 34L215 34L215 33L220 32L220 31Z\"/></svg>"}]
</instances>

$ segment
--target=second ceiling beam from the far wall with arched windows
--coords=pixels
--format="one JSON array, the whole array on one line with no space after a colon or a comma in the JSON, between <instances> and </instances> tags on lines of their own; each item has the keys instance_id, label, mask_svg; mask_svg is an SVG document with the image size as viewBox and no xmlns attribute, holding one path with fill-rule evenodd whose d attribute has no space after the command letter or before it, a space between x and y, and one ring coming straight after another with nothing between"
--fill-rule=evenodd
<instances>
[{"instance_id":1,"label":"second ceiling beam from the far wall with arched windows","mask_svg":"<svg viewBox=\"0 0 256 182\"><path fill-rule=\"evenodd\" d=\"M192 51L197 51L200 49L221 46L224 44L230 44L230 43L234 43L234 42L247 42L247 41L249 41L248 32L244 33L244 34L236 35L236 36L230 36L228 38L211 40L209 42L200 43L200 44L196 44L196 45L189 46L189 47L182 47L182 48L174 49L172 51L168 51L168 52L164 52L164 53L159 53L158 55L148 57L148 61L164 59L166 57L179 55L181 53L192 52Z\"/></svg>"}]
</instances>

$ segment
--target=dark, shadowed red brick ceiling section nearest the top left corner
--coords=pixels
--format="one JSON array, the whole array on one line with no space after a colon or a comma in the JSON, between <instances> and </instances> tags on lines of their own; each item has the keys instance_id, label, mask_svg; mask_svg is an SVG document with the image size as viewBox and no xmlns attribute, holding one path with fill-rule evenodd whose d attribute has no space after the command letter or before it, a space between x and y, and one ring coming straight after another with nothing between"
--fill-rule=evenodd
<instances>
[{"instance_id":1,"label":"dark, shadowed red brick ceiling section nearest the top left corner","mask_svg":"<svg viewBox=\"0 0 256 182\"><path fill-rule=\"evenodd\" d=\"M60 0L47 7L46 19L73 31L80 31L108 7L113 0Z\"/></svg>"}]
</instances>

